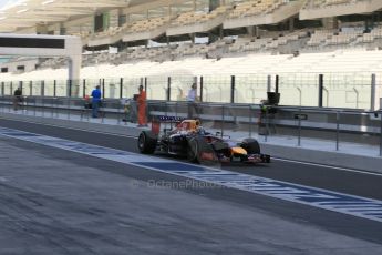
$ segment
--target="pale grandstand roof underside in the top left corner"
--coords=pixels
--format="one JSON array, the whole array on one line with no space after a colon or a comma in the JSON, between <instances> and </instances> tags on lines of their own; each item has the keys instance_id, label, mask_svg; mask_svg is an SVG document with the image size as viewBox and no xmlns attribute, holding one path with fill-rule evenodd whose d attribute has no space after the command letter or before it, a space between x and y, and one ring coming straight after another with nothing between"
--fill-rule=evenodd
<instances>
[{"instance_id":1,"label":"pale grandstand roof underside in the top left corner","mask_svg":"<svg viewBox=\"0 0 382 255\"><path fill-rule=\"evenodd\" d=\"M100 11L130 8L132 11L168 4L192 2L187 0L19 0L8 1L0 9L0 32L39 24L64 22L73 18L92 16Z\"/></svg>"}]
</instances>

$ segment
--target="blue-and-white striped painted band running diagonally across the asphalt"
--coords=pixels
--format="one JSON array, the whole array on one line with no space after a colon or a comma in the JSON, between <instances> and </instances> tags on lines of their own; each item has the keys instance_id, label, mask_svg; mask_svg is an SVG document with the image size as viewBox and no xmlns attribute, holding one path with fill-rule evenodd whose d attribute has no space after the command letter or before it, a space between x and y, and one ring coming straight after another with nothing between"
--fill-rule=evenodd
<instances>
[{"instance_id":1,"label":"blue-and-white striped painted band running diagonally across the asphalt","mask_svg":"<svg viewBox=\"0 0 382 255\"><path fill-rule=\"evenodd\" d=\"M382 202L219 169L0 128L0 135L382 222Z\"/></svg>"}]
</instances>

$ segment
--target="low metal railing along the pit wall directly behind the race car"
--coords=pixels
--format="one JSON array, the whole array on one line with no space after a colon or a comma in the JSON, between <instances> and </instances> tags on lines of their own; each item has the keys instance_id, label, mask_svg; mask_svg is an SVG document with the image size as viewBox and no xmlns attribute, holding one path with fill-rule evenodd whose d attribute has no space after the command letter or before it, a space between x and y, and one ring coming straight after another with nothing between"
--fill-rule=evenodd
<instances>
[{"instance_id":1,"label":"low metal railing along the pit wall directly behind the race car","mask_svg":"<svg viewBox=\"0 0 382 255\"><path fill-rule=\"evenodd\" d=\"M85 101L75 98L23 96L20 105L25 114L45 118L66 119L78 118L80 121L90 120L90 111L84 108ZM134 104L134 102L133 102ZM2 112L12 112L13 96L1 96ZM382 112L319 109L296 106L268 106L261 112L260 105L198 103L195 116L210 128L220 130L221 134L229 131L246 132L249 136L260 134L264 141L272 133L297 136L297 146L301 146L302 137L317 136L335 141L335 150L340 150L341 141L354 141L380 146L382 155ZM135 105L130 105L133 113ZM126 105L123 100L107 99L103 101L101 123L115 120L121 124L126 118ZM147 116L152 120L158 115L187 118L189 104L187 102L147 101ZM127 120L126 120L127 119ZM126 122L125 122L126 124Z\"/></svg>"}]
</instances>

